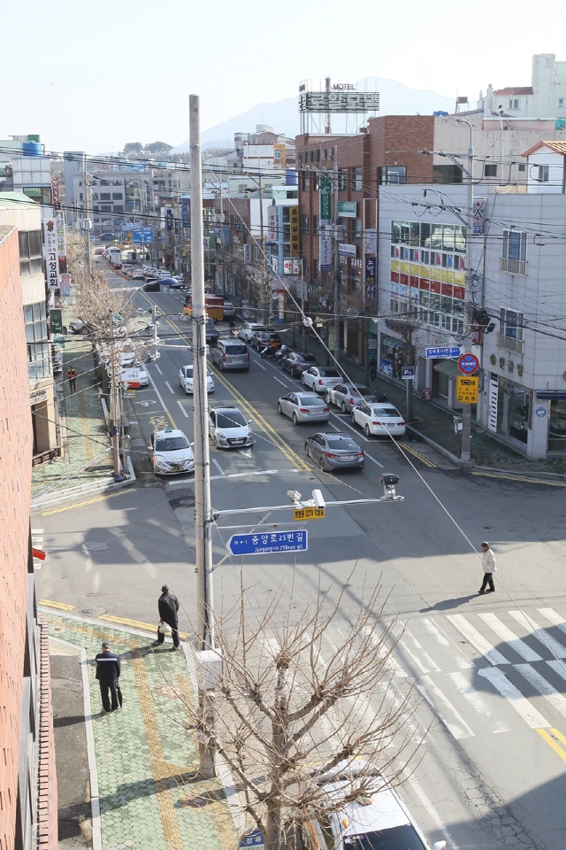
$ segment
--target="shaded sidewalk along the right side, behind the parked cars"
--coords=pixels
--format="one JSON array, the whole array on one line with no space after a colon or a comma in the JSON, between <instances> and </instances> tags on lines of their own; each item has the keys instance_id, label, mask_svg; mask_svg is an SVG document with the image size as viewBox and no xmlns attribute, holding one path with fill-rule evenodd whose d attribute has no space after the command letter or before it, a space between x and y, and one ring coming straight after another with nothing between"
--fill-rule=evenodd
<instances>
[{"instance_id":1,"label":"shaded sidewalk along the right side, behind the parked cars","mask_svg":"<svg viewBox=\"0 0 566 850\"><path fill-rule=\"evenodd\" d=\"M298 342L298 341L297 341ZM326 362L326 352L322 345L313 339L308 339L307 348L320 363ZM299 351L299 345L295 346ZM357 366L349 359L342 357L340 366L348 377L356 383L365 383L365 369ZM407 391L393 380L378 372L375 381L370 382L374 390L386 392L387 401L394 404L402 413L407 406ZM423 401L416 393L413 394L413 433L418 437L427 437L439 444L447 452L459 456L460 446L454 432L454 415L451 410L444 409L430 401ZM514 452L509 446L499 440L489 437L486 431L472 425L471 457L477 466L507 470L516 473L542 472L554 475L566 475L566 460L529 460L519 452Z\"/></svg>"}]
</instances>

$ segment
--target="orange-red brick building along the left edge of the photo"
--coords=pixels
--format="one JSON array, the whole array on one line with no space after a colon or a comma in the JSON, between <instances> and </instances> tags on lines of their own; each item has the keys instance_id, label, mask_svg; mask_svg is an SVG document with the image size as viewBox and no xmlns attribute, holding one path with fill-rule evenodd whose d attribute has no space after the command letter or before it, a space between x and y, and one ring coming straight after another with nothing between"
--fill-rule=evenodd
<instances>
[{"instance_id":1,"label":"orange-red brick building along the left edge of the photo","mask_svg":"<svg viewBox=\"0 0 566 850\"><path fill-rule=\"evenodd\" d=\"M29 528L34 435L21 298L19 231L0 224L0 850L51 850L57 778Z\"/></svg>"}]
</instances>

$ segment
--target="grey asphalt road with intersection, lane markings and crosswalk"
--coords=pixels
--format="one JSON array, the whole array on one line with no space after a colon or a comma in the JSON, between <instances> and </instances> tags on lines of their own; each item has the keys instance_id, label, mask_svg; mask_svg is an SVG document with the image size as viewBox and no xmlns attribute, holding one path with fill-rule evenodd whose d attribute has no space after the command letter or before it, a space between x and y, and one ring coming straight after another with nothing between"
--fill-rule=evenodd
<instances>
[{"instance_id":1,"label":"grey asphalt road with intersection, lane markings and crosswalk","mask_svg":"<svg viewBox=\"0 0 566 850\"><path fill-rule=\"evenodd\" d=\"M142 435L171 424L192 431L192 397L179 384L190 362L190 322L176 318L182 293L140 293L164 315L159 335L179 352L163 349L148 365L150 385L134 399ZM221 326L222 328L222 326ZM363 599L364 585L383 587L385 616L400 618L390 689L410 692L411 735L424 738L422 761L402 787L431 841L448 847L563 850L566 810L566 599L563 583L564 493L545 484L461 474L440 458L403 450L390 440L356 439L366 452L362 472L329 475L305 458L304 439L317 430L294 426L277 413L279 396L299 382L251 352L249 373L218 374L210 404L235 404L253 421L255 444L246 451L210 446L215 510L287 502L287 489L328 503L379 498L379 474L400 475L397 504L329 506L325 520L306 523L309 550L231 559L226 540L241 522L266 511L218 518L214 537L215 606L237 598L240 569L265 602L293 580L298 608L318 587L346 596L340 624ZM333 409L329 426L352 433L349 417ZM149 473L145 449L133 448L139 484L133 491L65 506L35 516L50 554L38 576L42 599L74 612L157 622L163 581L183 603L181 629L194 619L192 475L164 485ZM136 454L135 452L140 452ZM431 462L436 466L431 466ZM272 514L281 528L302 527L287 512ZM477 591L483 539L498 559L496 592ZM93 550L89 545L105 545ZM85 546L85 548L81 548ZM523 613L524 612L524 613ZM526 614L526 618L524 616ZM268 636L266 636L268 637ZM329 647L335 636L327 636ZM375 706L374 706L375 707ZM371 706L359 706L360 717ZM367 716L367 714L366 714Z\"/></svg>"}]
</instances>

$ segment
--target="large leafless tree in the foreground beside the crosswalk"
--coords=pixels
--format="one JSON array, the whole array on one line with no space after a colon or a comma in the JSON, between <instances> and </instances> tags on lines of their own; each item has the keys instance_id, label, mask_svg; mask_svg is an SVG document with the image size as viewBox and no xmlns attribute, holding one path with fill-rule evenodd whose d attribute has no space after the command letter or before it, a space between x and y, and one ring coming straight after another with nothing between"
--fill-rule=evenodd
<instances>
[{"instance_id":1,"label":"large leafless tree in the foreground beside the crosswalk","mask_svg":"<svg viewBox=\"0 0 566 850\"><path fill-rule=\"evenodd\" d=\"M262 607L241 587L237 609L216 623L216 719L210 699L187 711L203 746L232 771L243 812L269 850L282 850L323 809L371 795L384 775L399 783L399 756L409 749L403 761L412 761L420 741L404 729L409 704L392 683L395 621L384 621L379 586L357 607L344 590L331 599L318 589L299 614L293 591L274 596ZM325 778L339 773L329 799Z\"/></svg>"}]
</instances>

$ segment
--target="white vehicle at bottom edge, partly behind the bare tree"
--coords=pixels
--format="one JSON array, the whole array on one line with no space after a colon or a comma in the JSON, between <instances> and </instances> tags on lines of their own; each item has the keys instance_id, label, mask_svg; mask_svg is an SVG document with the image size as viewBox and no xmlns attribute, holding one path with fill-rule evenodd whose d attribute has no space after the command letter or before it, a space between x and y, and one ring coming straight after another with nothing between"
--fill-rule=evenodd
<instances>
[{"instance_id":1,"label":"white vehicle at bottom edge, partly behind the bare tree","mask_svg":"<svg viewBox=\"0 0 566 850\"><path fill-rule=\"evenodd\" d=\"M328 779L320 784L320 814L302 826L307 850L430 850L409 809L377 770L370 790L352 799L352 774L363 769L371 769L371 764L341 762L328 771ZM347 795L351 802L340 805ZM436 841L433 850L446 850L446 841Z\"/></svg>"}]
</instances>

